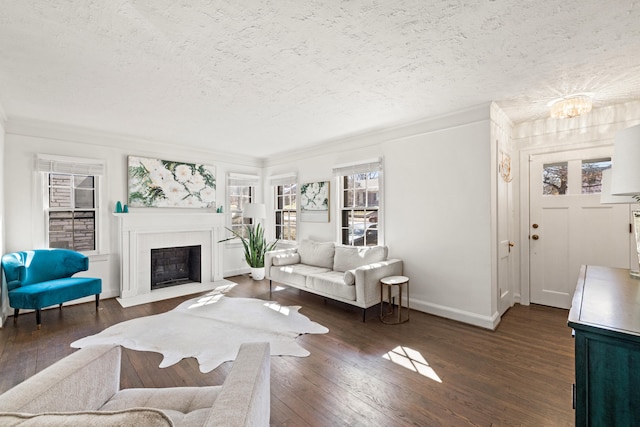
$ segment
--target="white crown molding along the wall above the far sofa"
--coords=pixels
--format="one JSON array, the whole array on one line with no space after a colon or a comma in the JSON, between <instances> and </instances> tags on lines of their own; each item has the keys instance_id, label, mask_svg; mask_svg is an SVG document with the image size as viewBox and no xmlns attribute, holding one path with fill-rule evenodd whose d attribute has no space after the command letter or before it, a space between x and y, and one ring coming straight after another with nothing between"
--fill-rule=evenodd
<instances>
[{"instance_id":1,"label":"white crown molding along the wall above the far sofa","mask_svg":"<svg viewBox=\"0 0 640 427\"><path fill-rule=\"evenodd\" d=\"M489 120L490 108L491 103L487 102L485 104L428 117L411 123L327 140L324 143L319 143L308 148L282 152L269 156L264 159L263 167L278 166L284 163L323 154L375 146L384 142L400 140L416 135L432 133L468 125L470 123Z\"/></svg>"}]
</instances>

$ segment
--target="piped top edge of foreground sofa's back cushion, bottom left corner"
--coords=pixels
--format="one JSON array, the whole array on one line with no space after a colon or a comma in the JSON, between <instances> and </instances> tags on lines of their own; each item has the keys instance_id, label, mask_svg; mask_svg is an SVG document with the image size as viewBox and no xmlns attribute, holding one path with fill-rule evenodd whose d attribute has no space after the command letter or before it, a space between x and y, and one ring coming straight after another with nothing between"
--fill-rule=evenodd
<instances>
[{"instance_id":1,"label":"piped top edge of foreground sofa's back cushion, bottom left corner","mask_svg":"<svg viewBox=\"0 0 640 427\"><path fill-rule=\"evenodd\" d=\"M41 414L25 414L0 412L0 425L5 427L139 427L139 426L174 426L171 419L162 411L152 408L131 408L126 411L100 412L45 412Z\"/></svg>"}]
</instances>

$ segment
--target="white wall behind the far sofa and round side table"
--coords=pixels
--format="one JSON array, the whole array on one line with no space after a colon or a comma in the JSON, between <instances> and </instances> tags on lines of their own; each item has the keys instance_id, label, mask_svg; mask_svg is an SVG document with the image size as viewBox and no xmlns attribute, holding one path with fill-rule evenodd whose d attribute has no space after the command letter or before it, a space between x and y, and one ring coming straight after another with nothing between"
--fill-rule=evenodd
<instances>
[{"instance_id":1,"label":"white wall behind the far sofa and round side table","mask_svg":"<svg viewBox=\"0 0 640 427\"><path fill-rule=\"evenodd\" d=\"M404 261L411 307L494 328L489 106L272 159L265 178L332 181L331 222L299 222L300 239L337 241L335 165L383 157L382 221L390 256ZM265 189L265 193L269 192Z\"/></svg>"}]
</instances>

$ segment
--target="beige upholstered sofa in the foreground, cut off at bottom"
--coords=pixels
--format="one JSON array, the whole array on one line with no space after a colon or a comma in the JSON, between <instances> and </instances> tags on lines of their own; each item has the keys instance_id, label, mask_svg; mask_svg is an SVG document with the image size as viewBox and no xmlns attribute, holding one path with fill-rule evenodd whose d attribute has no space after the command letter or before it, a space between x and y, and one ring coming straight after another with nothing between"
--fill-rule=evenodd
<instances>
[{"instance_id":1,"label":"beige upholstered sofa in the foreground, cut off at bottom","mask_svg":"<svg viewBox=\"0 0 640 427\"><path fill-rule=\"evenodd\" d=\"M0 395L1 426L268 426L269 343L245 343L221 386L120 390L121 348L84 347Z\"/></svg>"}]
</instances>

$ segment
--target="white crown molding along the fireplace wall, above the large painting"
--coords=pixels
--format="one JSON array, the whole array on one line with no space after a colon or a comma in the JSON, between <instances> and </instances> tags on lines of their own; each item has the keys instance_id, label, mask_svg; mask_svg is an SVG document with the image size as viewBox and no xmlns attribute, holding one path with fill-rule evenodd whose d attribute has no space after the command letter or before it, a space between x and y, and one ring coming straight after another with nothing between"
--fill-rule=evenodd
<instances>
[{"instance_id":1,"label":"white crown molding along the fireplace wall, above the large painting","mask_svg":"<svg viewBox=\"0 0 640 427\"><path fill-rule=\"evenodd\" d=\"M106 132L24 117L11 117L11 119L7 120L5 133L36 138L56 139L60 141L71 141L96 146L117 147L124 151L130 150L132 144L135 144L140 148L146 147L152 151L158 151L158 149L162 147L167 150L176 150L176 148L180 147L185 151L194 153L195 155L202 154L206 157L214 157L216 161L225 163L260 168L263 163L263 160L260 158L225 152L205 151L194 147L184 147L179 142L151 140L132 135Z\"/></svg>"}]
</instances>

